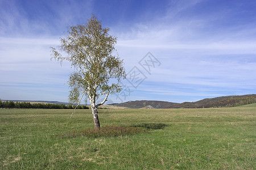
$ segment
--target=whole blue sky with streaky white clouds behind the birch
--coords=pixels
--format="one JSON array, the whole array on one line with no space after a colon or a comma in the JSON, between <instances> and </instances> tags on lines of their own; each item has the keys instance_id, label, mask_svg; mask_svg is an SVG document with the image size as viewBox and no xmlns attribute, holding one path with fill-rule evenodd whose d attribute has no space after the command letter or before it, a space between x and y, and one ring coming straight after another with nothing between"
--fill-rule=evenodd
<instances>
[{"instance_id":1,"label":"whole blue sky with streaky white clouds behind the birch","mask_svg":"<svg viewBox=\"0 0 256 170\"><path fill-rule=\"evenodd\" d=\"M0 98L68 101L73 69L51 61L49 46L92 14L118 37L130 74L109 103L256 94L256 1L9 0L0 1Z\"/></svg>"}]
</instances>

